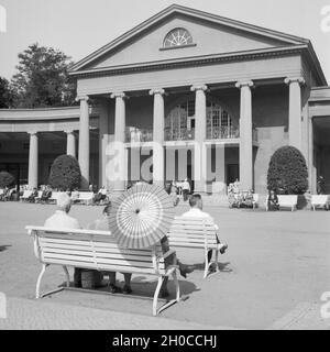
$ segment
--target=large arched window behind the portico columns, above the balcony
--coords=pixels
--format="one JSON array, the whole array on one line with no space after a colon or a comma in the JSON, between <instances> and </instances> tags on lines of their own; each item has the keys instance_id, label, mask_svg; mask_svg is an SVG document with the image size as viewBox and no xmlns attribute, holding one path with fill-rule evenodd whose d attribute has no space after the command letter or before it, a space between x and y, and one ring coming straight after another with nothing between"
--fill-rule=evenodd
<instances>
[{"instance_id":1,"label":"large arched window behind the portico columns, above the balcony","mask_svg":"<svg viewBox=\"0 0 330 352\"><path fill-rule=\"evenodd\" d=\"M232 117L220 105L207 101L207 139L221 140L239 138L239 130ZM195 99L176 105L165 118L165 140L186 141L195 139Z\"/></svg>"}]
</instances>

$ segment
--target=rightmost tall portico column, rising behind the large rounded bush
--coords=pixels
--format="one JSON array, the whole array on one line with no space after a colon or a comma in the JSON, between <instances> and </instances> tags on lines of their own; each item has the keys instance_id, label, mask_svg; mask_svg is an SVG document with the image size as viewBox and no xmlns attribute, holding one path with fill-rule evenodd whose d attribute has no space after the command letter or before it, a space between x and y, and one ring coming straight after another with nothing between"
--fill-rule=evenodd
<instances>
[{"instance_id":1,"label":"rightmost tall portico column, rising behind the large rounded bush","mask_svg":"<svg viewBox=\"0 0 330 352\"><path fill-rule=\"evenodd\" d=\"M289 145L301 151L301 88L305 84L302 77L286 78L285 84L289 86L289 117L288 134Z\"/></svg>"}]
</instances>

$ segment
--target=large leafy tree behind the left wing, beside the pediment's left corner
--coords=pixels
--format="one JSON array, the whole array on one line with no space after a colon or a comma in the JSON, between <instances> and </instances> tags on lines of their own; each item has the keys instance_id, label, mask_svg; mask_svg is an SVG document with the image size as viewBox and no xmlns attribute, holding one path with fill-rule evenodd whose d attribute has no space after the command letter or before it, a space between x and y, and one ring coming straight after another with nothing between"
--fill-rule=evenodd
<instances>
[{"instance_id":1,"label":"large leafy tree behind the left wing, beside the pediment's left corner","mask_svg":"<svg viewBox=\"0 0 330 352\"><path fill-rule=\"evenodd\" d=\"M58 50L32 44L19 54L12 77L14 107L61 107L75 102L75 84L69 81L72 62Z\"/></svg>"}]
</instances>

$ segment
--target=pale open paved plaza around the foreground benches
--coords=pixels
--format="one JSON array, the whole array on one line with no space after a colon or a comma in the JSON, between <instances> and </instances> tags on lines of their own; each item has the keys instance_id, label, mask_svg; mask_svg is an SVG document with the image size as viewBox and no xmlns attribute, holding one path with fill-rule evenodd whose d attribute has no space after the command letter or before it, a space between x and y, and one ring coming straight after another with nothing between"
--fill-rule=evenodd
<instances>
[{"instance_id":1,"label":"pale open paved plaza around the foreground benches","mask_svg":"<svg viewBox=\"0 0 330 352\"><path fill-rule=\"evenodd\" d=\"M54 206L0 204L0 292L7 295L8 319L0 329L329 329L320 300L330 292L330 212L207 207L229 251L220 257L220 273L202 279L204 253L177 250L178 257L197 270L179 277L184 301L153 318L154 277L133 276L132 288L142 298L61 292L34 300L41 264L24 227L42 226ZM187 206L179 206L180 213ZM82 227L101 215L102 207L74 206ZM72 273L72 272L70 272ZM119 285L123 277L118 274ZM61 267L51 266L42 290L65 282ZM169 285L173 294L173 286ZM29 317L29 318L28 318ZM55 319L54 319L55 317ZM73 319L74 317L74 319ZM89 319L88 317L92 317Z\"/></svg>"}]
</instances>

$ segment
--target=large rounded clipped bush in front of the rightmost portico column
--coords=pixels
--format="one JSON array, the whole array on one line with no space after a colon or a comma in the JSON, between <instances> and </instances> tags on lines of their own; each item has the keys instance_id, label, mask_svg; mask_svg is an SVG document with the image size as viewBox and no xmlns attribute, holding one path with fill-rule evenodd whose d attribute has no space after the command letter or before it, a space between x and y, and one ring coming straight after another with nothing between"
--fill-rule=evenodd
<instances>
[{"instance_id":1,"label":"large rounded clipped bush in front of the rightmost portico column","mask_svg":"<svg viewBox=\"0 0 330 352\"><path fill-rule=\"evenodd\" d=\"M294 146L279 147L272 156L267 188L277 194L302 195L308 189L308 172L304 155Z\"/></svg>"}]
</instances>

